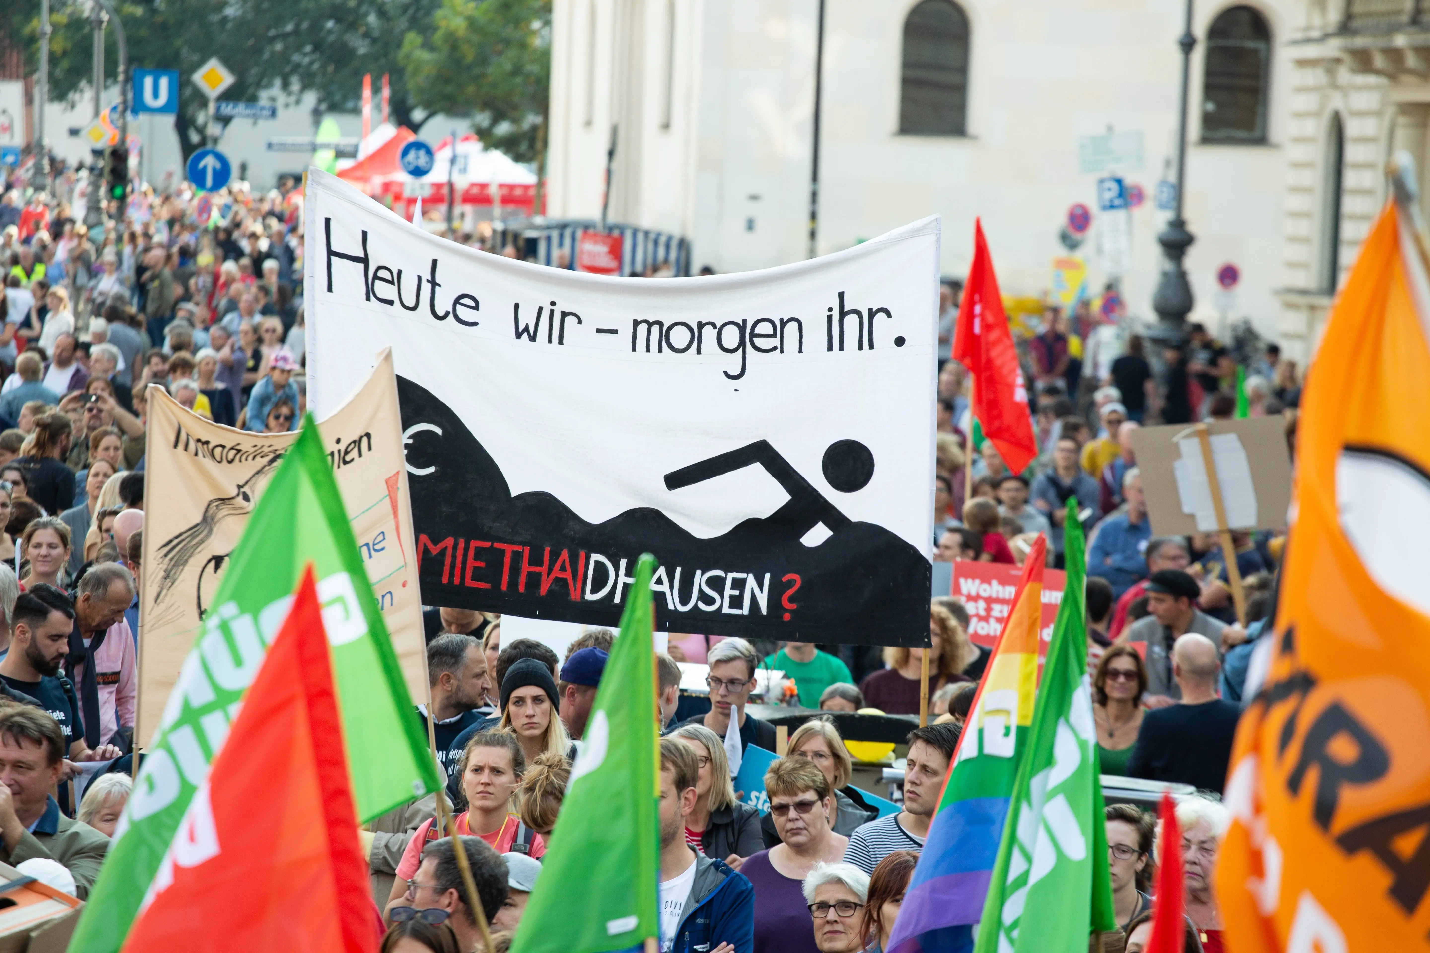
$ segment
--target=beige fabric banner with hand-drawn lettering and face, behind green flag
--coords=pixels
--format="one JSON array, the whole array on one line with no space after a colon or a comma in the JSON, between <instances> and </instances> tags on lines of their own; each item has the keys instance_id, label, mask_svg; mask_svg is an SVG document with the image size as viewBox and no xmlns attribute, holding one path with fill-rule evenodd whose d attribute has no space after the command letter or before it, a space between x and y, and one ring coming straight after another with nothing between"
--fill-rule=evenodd
<instances>
[{"instance_id":1,"label":"beige fabric banner with hand-drawn lettering and face, behind green flag","mask_svg":"<svg viewBox=\"0 0 1430 953\"><path fill-rule=\"evenodd\" d=\"M422 597L390 350L319 427L408 690L423 699ZM159 726L227 556L296 439L219 426L150 387L137 739Z\"/></svg>"}]
</instances>

